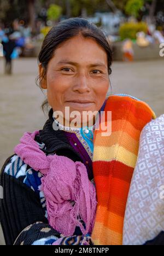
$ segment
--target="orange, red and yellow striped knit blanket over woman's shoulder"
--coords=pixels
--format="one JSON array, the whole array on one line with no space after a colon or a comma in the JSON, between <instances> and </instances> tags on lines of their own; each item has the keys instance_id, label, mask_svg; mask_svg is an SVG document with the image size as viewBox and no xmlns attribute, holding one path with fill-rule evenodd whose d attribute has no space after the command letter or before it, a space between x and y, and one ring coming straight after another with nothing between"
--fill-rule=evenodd
<instances>
[{"instance_id":1,"label":"orange, red and yellow striped knit blanket over woman's shoulder","mask_svg":"<svg viewBox=\"0 0 164 256\"><path fill-rule=\"evenodd\" d=\"M122 245L140 133L155 114L142 101L115 95L108 98L104 113L107 111L112 112L112 135L102 136L101 129L94 133L93 176L98 205L92 239L95 245Z\"/></svg>"}]
</instances>

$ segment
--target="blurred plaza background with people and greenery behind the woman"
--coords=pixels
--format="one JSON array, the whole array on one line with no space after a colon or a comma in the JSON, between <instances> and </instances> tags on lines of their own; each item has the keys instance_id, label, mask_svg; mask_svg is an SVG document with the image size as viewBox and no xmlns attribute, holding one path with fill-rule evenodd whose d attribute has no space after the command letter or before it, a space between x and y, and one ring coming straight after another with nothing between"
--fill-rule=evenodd
<instances>
[{"instance_id":1,"label":"blurred plaza background with people and greenery behind the woman","mask_svg":"<svg viewBox=\"0 0 164 256\"><path fill-rule=\"evenodd\" d=\"M22 134L48 118L35 84L37 56L50 28L76 16L101 27L112 45L109 93L138 97L164 114L163 0L0 0L0 167Z\"/></svg>"}]
</instances>

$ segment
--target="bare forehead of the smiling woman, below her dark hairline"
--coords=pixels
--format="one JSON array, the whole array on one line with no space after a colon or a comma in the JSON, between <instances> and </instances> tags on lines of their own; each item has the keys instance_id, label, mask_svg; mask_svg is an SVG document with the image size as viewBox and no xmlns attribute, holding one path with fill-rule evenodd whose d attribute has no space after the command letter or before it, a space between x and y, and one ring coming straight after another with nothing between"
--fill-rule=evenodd
<instances>
[{"instance_id":1,"label":"bare forehead of the smiling woman, below her dark hairline","mask_svg":"<svg viewBox=\"0 0 164 256\"><path fill-rule=\"evenodd\" d=\"M105 49L92 38L75 36L62 43L54 52L53 62L66 62L65 60L82 62L101 62L107 65L107 53Z\"/></svg>"}]
</instances>

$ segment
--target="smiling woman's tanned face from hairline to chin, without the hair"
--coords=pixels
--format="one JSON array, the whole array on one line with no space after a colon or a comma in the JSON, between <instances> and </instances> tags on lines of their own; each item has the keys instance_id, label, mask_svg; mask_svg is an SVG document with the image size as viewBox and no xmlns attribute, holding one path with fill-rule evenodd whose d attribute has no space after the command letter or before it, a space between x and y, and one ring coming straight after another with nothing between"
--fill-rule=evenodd
<instances>
[{"instance_id":1,"label":"smiling woman's tanned face from hairline to chin, without the hair","mask_svg":"<svg viewBox=\"0 0 164 256\"><path fill-rule=\"evenodd\" d=\"M40 65L40 75L42 72ZM47 89L54 111L65 117L65 107L69 107L70 113L76 110L83 116L83 111L95 112L102 107L109 84L106 51L95 40L78 35L55 50L42 88Z\"/></svg>"}]
</instances>

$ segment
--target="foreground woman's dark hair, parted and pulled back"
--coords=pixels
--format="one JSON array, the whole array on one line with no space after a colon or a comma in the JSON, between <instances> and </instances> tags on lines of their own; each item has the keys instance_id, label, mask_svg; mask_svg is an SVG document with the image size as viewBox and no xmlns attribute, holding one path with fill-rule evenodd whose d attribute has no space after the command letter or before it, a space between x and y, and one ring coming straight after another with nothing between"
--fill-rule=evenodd
<instances>
[{"instance_id":1,"label":"foreground woman's dark hair, parted and pulled back","mask_svg":"<svg viewBox=\"0 0 164 256\"><path fill-rule=\"evenodd\" d=\"M57 49L57 47L62 43L65 43L66 40L78 36L79 33L85 38L90 37L95 39L96 42L106 51L108 57L108 74L111 74L112 70L110 67L112 65L112 49L105 34L95 24L92 24L86 19L80 17L71 18L63 20L56 26L52 27L43 41L42 48L38 56L38 64L42 64L44 74L43 77L38 76L36 79L36 84L39 80L39 86L42 91L42 80L46 75L48 63L52 59L55 49ZM43 102L41 108L43 112L45 108L48 109L47 99Z\"/></svg>"}]
</instances>

